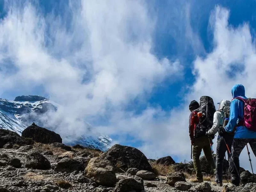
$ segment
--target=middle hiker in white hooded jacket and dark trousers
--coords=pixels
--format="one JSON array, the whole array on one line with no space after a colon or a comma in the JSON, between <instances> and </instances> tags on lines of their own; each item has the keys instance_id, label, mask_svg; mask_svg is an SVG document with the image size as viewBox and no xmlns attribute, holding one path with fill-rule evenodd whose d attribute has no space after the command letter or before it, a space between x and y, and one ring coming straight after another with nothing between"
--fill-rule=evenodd
<instances>
[{"instance_id":1,"label":"middle hiker in white hooded jacket and dark trousers","mask_svg":"<svg viewBox=\"0 0 256 192\"><path fill-rule=\"evenodd\" d=\"M214 113L214 116L213 116L212 128L209 131L207 131L208 135L215 135L218 132L219 128L223 127L225 118L229 118L230 103L231 102L229 100L220 101L219 109ZM227 151L225 141L228 144L228 147L231 149L233 138L234 138L234 133L226 133L223 135L220 135L220 134L218 135L217 148L216 148L216 179L215 181L220 186L222 186L223 163L224 163L225 153ZM230 158L229 153L228 153L228 158Z\"/></svg>"}]
</instances>

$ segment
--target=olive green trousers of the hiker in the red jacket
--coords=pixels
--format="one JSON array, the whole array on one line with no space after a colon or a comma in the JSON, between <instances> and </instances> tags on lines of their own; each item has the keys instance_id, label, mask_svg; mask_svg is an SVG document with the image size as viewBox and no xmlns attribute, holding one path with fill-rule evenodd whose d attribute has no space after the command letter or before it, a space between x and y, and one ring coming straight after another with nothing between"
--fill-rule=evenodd
<instances>
[{"instance_id":1,"label":"olive green trousers of the hiker in the red jacket","mask_svg":"<svg viewBox=\"0 0 256 192\"><path fill-rule=\"evenodd\" d=\"M197 179L203 179L203 174L201 171L201 165L199 160L202 150L204 151L204 156L208 164L211 165L212 170L215 169L209 137L202 136L202 137L196 138L194 142L194 147L193 147L193 162L196 170Z\"/></svg>"}]
</instances>

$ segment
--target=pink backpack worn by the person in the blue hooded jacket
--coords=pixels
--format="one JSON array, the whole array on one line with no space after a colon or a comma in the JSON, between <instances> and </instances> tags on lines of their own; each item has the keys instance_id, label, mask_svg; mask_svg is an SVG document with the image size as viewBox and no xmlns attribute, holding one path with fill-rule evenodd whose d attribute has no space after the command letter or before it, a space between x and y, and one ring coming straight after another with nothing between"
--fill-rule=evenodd
<instances>
[{"instance_id":1,"label":"pink backpack worn by the person in the blue hooded jacket","mask_svg":"<svg viewBox=\"0 0 256 192\"><path fill-rule=\"evenodd\" d=\"M243 125L251 131L256 131L256 99L244 99L241 97L236 97L234 99L239 99L244 102Z\"/></svg>"}]
</instances>

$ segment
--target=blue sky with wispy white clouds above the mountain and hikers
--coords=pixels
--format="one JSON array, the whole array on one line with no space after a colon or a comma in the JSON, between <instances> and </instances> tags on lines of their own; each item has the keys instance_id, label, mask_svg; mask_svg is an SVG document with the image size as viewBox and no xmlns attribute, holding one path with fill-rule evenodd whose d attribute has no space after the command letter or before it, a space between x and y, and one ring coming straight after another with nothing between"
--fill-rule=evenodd
<instances>
[{"instance_id":1,"label":"blue sky with wispy white clouds above the mountain and hikers","mask_svg":"<svg viewBox=\"0 0 256 192\"><path fill-rule=\"evenodd\" d=\"M86 132L85 119L151 158L188 160L190 100L231 100L234 83L256 97L255 7L252 0L0 1L0 97L38 94L61 104L52 123L64 119L63 137Z\"/></svg>"}]
</instances>

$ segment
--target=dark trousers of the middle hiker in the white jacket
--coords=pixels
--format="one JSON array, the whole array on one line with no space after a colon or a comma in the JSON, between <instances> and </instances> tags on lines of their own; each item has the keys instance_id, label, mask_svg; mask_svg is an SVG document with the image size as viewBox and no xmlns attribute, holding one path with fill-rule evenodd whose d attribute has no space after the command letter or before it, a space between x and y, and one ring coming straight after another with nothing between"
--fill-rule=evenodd
<instances>
[{"instance_id":1,"label":"dark trousers of the middle hiker in the white jacket","mask_svg":"<svg viewBox=\"0 0 256 192\"><path fill-rule=\"evenodd\" d=\"M227 142L229 150L231 150L232 142L234 139L234 136L229 135L228 133L223 135L225 141ZM224 157L225 153L228 150L227 146L225 144L225 141L223 137L218 137L217 141L217 149L216 149L216 182L222 183L222 174L223 174L223 163L224 163ZM230 164L231 156L228 153L228 161Z\"/></svg>"}]
</instances>

